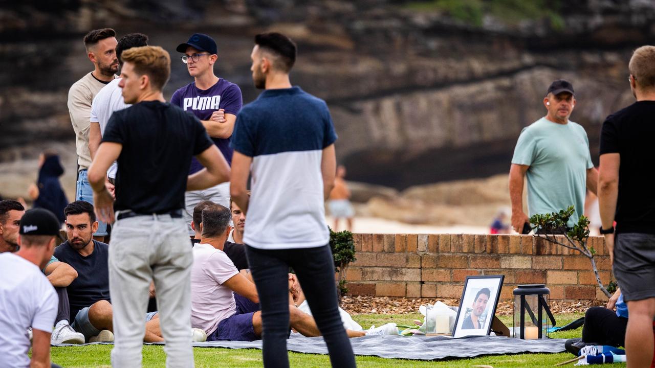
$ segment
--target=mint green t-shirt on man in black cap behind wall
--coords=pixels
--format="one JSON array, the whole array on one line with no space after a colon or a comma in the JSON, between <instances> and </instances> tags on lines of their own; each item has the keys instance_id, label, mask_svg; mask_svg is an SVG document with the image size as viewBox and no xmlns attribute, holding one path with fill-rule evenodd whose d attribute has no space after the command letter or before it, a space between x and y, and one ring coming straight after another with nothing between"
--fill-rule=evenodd
<instances>
[{"instance_id":1,"label":"mint green t-shirt on man in black cap behind wall","mask_svg":"<svg viewBox=\"0 0 655 368\"><path fill-rule=\"evenodd\" d=\"M545 117L523 128L512 164L530 166L528 213L550 213L574 206L569 227L584 213L587 170L593 168L584 128L569 120L557 124Z\"/></svg>"}]
</instances>

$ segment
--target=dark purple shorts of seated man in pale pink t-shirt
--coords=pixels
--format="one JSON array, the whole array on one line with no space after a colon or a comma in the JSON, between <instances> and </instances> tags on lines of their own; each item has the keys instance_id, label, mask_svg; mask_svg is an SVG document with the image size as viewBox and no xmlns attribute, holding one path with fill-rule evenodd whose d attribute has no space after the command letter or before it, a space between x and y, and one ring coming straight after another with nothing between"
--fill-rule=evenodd
<instances>
[{"instance_id":1,"label":"dark purple shorts of seated man in pale pink t-shirt","mask_svg":"<svg viewBox=\"0 0 655 368\"><path fill-rule=\"evenodd\" d=\"M250 299L234 293L236 313L218 323L214 332L210 333L207 341L254 341L261 337L255 335L252 325L252 315L259 310L259 304L252 303Z\"/></svg>"}]
</instances>

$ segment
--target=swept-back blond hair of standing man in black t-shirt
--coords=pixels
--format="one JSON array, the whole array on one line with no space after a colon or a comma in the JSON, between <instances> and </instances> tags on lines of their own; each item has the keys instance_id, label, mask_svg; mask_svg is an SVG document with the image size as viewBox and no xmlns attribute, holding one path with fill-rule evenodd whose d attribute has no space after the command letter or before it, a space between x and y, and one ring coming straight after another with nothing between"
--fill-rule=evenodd
<instances>
[{"instance_id":1,"label":"swept-back blond hair of standing man in black t-shirt","mask_svg":"<svg viewBox=\"0 0 655 368\"><path fill-rule=\"evenodd\" d=\"M124 50L123 63L134 65L139 75L147 75L153 89L162 90L170 76L170 55L160 46L141 46Z\"/></svg>"}]
</instances>

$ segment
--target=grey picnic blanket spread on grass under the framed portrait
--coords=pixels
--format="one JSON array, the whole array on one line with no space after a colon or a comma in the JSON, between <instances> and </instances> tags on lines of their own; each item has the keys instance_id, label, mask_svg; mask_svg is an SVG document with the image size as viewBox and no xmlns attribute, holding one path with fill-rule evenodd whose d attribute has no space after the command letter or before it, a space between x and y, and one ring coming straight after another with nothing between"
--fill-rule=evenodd
<instances>
[{"instance_id":1,"label":"grey picnic blanket spread on grass under the framed portrait","mask_svg":"<svg viewBox=\"0 0 655 368\"><path fill-rule=\"evenodd\" d=\"M452 337L403 337L365 336L350 339L355 355L436 360L446 358L472 358L490 354L559 353L565 351L565 339L521 340L508 337L476 336L453 339ZM98 344L96 342L95 344ZM155 343L162 344L162 343ZM71 346L56 344L55 346ZM199 348L261 349L261 340L194 342ZM327 354L322 337L292 336L287 340L292 352Z\"/></svg>"}]
</instances>

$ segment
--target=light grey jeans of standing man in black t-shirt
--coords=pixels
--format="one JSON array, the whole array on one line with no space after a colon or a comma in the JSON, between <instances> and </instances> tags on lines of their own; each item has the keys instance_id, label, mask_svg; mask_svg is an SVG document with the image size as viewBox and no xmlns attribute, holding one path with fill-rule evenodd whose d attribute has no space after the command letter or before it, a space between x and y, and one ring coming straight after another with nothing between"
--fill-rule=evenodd
<instances>
[{"instance_id":1,"label":"light grey jeans of standing man in black t-shirt","mask_svg":"<svg viewBox=\"0 0 655 368\"><path fill-rule=\"evenodd\" d=\"M141 348L151 280L155 282L166 367L193 367L191 264L186 225L170 215L118 220L109 246L113 306L113 367L141 367Z\"/></svg>"}]
</instances>

